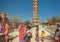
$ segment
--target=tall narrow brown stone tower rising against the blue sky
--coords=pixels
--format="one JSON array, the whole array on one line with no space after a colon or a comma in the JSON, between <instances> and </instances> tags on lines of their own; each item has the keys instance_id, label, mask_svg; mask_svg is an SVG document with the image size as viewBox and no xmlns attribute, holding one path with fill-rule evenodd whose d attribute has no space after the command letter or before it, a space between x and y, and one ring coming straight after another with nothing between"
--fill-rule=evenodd
<instances>
[{"instance_id":1,"label":"tall narrow brown stone tower rising against the blue sky","mask_svg":"<svg viewBox=\"0 0 60 42\"><path fill-rule=\"evenodd\" d=\"M39 25L38 19L38 0L33 0L33 24Z\"/></svg>"}]
</instances>

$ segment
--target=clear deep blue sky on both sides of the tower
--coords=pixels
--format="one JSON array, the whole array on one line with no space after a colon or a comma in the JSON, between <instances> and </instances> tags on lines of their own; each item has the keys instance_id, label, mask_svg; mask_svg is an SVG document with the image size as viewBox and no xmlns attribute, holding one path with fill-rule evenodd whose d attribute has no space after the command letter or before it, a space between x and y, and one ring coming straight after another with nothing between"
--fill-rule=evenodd
<instances>
[{"instance_id":1,"label":"clear deep blue sky on both sides of the tower","mask_svg":"<svg viewBox=\"0 0 60 42\"><path fill-rule=\"evenodd\" d=\"M32 21L32 0L0 0L0 11ZM39 20L60 16L60 0L38 0L38 16Z\"/></svg>"}]
</instances>

